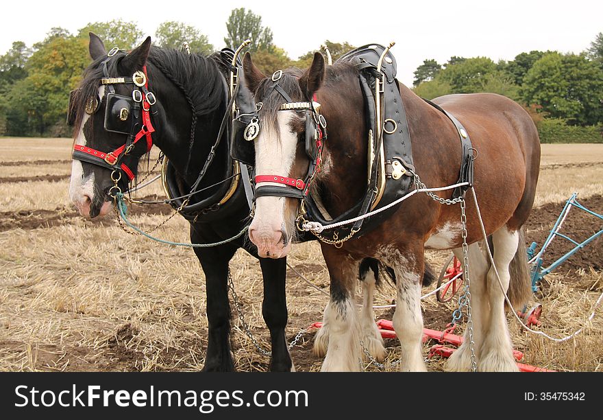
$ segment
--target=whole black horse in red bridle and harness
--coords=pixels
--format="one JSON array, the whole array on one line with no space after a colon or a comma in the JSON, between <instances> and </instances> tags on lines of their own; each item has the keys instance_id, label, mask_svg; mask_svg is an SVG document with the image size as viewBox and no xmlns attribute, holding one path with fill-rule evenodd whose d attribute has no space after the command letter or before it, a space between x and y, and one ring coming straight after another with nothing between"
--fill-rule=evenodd
<instances>
[{"instance_id":1,"label":"whole black horse in red bridle and harness","mask_svg":"<svg viewBox=\"0 0 603 420\"><path fill-rule=\"evenodd\" d=\"M169 159L175 196L186 196L204 171L194 194L175 200L190 221L193 244L220 242L245 228L249 204L238 163L230 157L228 80L223 53L210 56L151 47L147 38L129 54L112 49L90 33L92 64L71 97L74 160L71 199L82 215L95 218L112 208L116 192L127 191L140 158L156 145ZM251 94L243 86L240 89ZM227 121L227 124L223 124ZM223 137L224 141L217 139ZM208 156L213 154L212 159ZM204 166L212 160L209 167ZM184 205L184 206L182 206ZM271 371L291 371L285 326L286 259L259 258L241 236L221 246L195 248L207 283L208 347L204 371L232 371L228 263L238 248L260 260L264 277L262 314L270 330Z\"/></svg>"}]
</instances>

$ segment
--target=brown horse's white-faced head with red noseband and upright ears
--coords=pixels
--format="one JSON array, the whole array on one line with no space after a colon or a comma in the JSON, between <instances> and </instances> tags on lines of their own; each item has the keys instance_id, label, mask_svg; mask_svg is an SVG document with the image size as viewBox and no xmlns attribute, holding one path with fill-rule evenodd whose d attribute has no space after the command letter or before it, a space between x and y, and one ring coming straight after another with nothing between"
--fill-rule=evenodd
<instances>
[{"instance_id":1,"label":"brown horse's white-faced head with red noseband and upright ears","mask_svg":"<svg viewBox=\"0 0 603 420\"><path fill-rule=\"evenodd\" d=\"M297 209L320 165L326 124L315 93L323 82L325 61L317 53L308 70L279 70L267 78L247 53L243 71L259 119L254 140L256 211L249 238L261 257L280 258L291 249Z\"/></svg>"}]
</instances>

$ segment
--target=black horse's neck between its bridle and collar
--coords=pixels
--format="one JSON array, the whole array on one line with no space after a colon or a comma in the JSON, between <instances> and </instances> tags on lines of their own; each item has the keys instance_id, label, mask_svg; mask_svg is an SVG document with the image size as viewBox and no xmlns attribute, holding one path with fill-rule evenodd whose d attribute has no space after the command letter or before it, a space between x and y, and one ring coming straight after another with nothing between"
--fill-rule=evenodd
<instances>
[{"instance_id":1,"label":"black horse's neck between its bridle and collar","mask_svg":"<svg viewBox=\"0 0 603 420\"><path fill-rule=\"evenodd\" d=\"M150 73L151 69L149 69L149 78L154 76L157 80L153 85L153 91L158 98L157 103L160 104L153 115L153 126L156 130L153 141L167 156L177 174L190 185L197 178L212 145L217 140L227 98L224 98L223 106L219 106L216 110L205 115L197 115L194 139L191 139L193 110L185 94L159 69L153 70L153 73ZM192 150L191 141L193 141ZM223 151L217 151L217 154L220 152ZM216 158L219 159L219 156ZM185 174L187 164L188 171ZM217 175L210 173L206 179L210 180Z\"/></svg>"}]
</instances>

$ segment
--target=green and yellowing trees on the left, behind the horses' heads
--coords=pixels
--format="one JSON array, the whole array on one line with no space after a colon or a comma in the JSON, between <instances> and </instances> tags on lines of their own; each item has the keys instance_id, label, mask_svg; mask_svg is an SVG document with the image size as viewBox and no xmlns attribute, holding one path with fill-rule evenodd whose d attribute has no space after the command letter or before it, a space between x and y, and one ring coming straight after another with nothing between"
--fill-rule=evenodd
<instances>
[{"instance_id":1,"label":"green and yellowing trees on the left, behind the horses' heads","mask_svg":"<svg viewBox=\"0 0 603 420\"><path fill-rule=\"evenodd\" d=\"M66 108L69 91L75 89L90 63L88 32L100 36L107 49L130 50L144 39L136 23L118 19L88 23L76 34L53 27L44 40L31 47L22 41L12 43L0 56L0 136L71 135L65 123ZM249 51L266 73L289 66L308 67L312 62L312 51L297 60L288 58L284 49L274 45L272 31L262 25L261 16L251 10L232 10L226 32L224 44L232 48L251 39ZM216 50L205 34L182 22L161 23L153 37L153 44L163 48L180 49L184 42L194 54ZM335 58L352 48L347 43L325 42Z\"/></svg>"}]
</instances>

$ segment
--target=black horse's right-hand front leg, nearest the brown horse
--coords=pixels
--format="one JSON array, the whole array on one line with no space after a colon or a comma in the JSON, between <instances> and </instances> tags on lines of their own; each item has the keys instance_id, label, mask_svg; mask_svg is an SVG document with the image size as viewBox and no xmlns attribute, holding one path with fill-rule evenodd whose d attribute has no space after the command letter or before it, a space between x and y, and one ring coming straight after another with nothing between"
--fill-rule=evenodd
<instances>
[{"instance_id":1,"label":"black horse's right-hand front leg, nearest the brown horse","mask_svg":"<svg viewBox=\"0 0 603 420\"><path fill-rule=\"evenodd\" d=\"M260 258L264 276L264 301L262 315L270 331L272 357L270 370L277 372L295 371L287 348L285 327L287 325L287 302L285 296L286 258Z\"/></svg>"}]
</instances>

